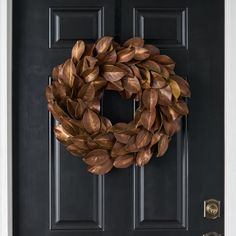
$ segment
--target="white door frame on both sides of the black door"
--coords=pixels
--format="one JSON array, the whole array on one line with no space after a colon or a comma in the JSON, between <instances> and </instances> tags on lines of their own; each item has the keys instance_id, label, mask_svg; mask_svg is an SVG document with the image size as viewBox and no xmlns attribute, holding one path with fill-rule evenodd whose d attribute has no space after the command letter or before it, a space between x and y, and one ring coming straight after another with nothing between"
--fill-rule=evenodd
<instances>
[{"instance_id":1,"label":"white door frame on both sides of the black door","mask_svg":"<svg viewBox=\"0 0 236 236\"><path fill-rule=\"evenodd\" d=\"M236 235L235 42L236 0L225 0L225 236ZM13 236L11 124L12 0L0 0L0 236Z\"/></svg>"}]
</instances>

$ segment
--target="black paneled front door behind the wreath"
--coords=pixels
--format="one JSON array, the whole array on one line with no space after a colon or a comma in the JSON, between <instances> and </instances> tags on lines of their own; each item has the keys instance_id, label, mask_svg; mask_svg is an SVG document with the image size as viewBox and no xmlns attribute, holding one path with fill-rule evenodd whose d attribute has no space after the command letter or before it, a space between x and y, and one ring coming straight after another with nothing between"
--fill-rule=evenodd
<instances>
[{"instance_id":1,"label":"black paneled front door behind the wreath","mask_svg":"<svg viewBox=\"0 0 236 236\"><path fill-rule=\"evenodd\" d=\"M222 235L224 1L14 0L13 21L14 236ZM103 35L158 46L192 97L164 157L94 176L55 140L44 91L77 39ZM130 121L133 102L106 93L103 110ZM203 217L210 198L215 220Z\"/></svg>"}]
</instances>

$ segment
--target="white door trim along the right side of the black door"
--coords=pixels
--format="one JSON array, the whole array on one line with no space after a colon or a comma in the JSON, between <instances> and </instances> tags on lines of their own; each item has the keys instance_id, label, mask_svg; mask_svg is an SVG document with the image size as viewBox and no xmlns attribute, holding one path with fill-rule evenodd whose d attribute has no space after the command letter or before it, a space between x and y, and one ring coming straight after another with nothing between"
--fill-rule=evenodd
<instances>
[{"instance_id":1,"label":"white door trim along the right side of the black door","mask_svg":"<svg viewBox=\"0 0 236 236\"><path fill-rule=\"evenodd\" d=\"M225 235L236 234L236 1L225 0Z\"/></svg>"}]
</instances>

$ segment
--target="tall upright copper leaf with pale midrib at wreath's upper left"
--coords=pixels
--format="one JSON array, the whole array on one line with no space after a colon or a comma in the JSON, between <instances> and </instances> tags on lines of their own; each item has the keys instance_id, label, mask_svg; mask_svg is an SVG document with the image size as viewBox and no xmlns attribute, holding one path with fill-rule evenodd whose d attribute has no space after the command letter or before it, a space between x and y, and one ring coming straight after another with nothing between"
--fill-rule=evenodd
<instances>
[{"instance_id":1,"label":"tall upright copper leaf with pale midrib at wreath's upper left","mask_svg":"<svg viewBox=\"0 0 236 236\"><path fill-rule=\"evenodd\" d=\"M76 74L75 65L71 59L68 59L64 63L62 68L62 78L63 82L70 88L73 86L75 74Z\"/></svg>"}]
</instances>

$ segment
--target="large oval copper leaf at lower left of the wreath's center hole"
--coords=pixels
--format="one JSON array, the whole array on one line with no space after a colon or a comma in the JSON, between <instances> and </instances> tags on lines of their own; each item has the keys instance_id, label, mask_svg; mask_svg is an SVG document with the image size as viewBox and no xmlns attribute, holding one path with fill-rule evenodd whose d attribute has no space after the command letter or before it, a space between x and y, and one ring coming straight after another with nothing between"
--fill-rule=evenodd
<instances>
[{"instance_id":1,"label":"large oval copper leaf at lower left of the wreath's center hole","mask_svg":"<svg viewBox=\"0 0 236 236\"><path fill-rule=\"evenodd\" d=\"M97 133L101 128L101 121L96 112L88 109L83 115L83 125L88 133Z\"/></svg>"}]
</instances>

